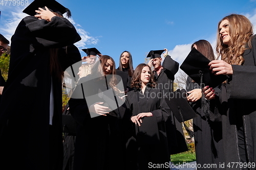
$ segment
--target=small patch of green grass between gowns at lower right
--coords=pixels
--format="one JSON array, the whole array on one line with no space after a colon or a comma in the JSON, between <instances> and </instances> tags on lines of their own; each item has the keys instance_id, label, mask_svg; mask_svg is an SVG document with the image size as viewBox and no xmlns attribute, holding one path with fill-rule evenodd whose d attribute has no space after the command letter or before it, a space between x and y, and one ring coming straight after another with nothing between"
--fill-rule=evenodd
<instances>
[{"instance_id":1,"label":"small patch of green grass between gowns at lower right","mask_svg":"<svg viewBox=\"0 0 256 170\"><path fill-rule=\"evenodd\" d=\"M182 164L183 162L196 161L195 144L188 143L187 148L188 148L187 152L171 155L170 161L173 162L174 164L179 164L179 163Z\"/></svg>"}]
</instances>

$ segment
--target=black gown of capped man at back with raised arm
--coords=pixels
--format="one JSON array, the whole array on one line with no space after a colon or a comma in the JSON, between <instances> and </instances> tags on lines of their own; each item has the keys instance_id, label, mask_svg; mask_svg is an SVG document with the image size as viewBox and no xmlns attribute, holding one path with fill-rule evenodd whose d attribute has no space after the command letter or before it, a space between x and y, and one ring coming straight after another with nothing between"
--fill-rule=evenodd
<instances>
[{"instance_id":1,"label":"black gown of capped man at back with raised arm","mask_svg":"<svg viewBox=\"0 0 256 170\"><path fill-rule=\"evenodd\" d=\"M168 98L169 93L173 92L174 76L179 70L179 63L174 61L169 55L164 58L162 63L163 69L157 76L155 74L155 80L157 82L157 88L163 91L164 98ZM187 145L182 130L181 124L178 122L174 114L166 122L167 138L169 144L169 154L177 154L187 151Z\"/></svg>"}]
</instances>

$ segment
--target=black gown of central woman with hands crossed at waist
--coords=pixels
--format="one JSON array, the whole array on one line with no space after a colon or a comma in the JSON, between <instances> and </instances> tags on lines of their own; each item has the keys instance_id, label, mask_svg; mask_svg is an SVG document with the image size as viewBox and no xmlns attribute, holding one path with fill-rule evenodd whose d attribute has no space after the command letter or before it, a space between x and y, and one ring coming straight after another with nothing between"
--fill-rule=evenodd
<instances>
[{"instance_id":1,"label":"black gown of central woman with hands crossed at waist","mask_svg":"<svg viewBox=\"0 0 256 170\"><path fill-rule=\"evenodd\" d=\"M130 115L134 116L142 112L151 112L153 117L144 117L142 119L141 127L143 127L143 121L146 119L152 119L152 124L156 124L154 129L146 126L146 137L143 142L138 138L134 123L130 122L131 137L128 140L127 157L126 157L126 169L151 169L150 162L153 164L169 163L170 157L168 154L168 144L166 137L165 122L170 117L169 108L163 99L163 94L160 89L146 87L144 94L140 90L129 91L125 100L127 108L130 110ZM147 136L147 134L156 131L159 135L159 139L153 139L155 136ZM157 140L152 142L152 140ZM159 169L165 169L159 168ZM167 168L169 169L169 168Z\"/></svg>"}]
</instances>

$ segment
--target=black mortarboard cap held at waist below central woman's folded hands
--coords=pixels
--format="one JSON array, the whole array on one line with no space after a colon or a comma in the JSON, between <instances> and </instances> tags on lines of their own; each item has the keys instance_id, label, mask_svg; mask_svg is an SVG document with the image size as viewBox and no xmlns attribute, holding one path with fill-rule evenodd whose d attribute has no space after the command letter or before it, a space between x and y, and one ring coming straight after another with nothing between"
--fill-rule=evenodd
<instances>
[{"instance_id":1,"label":"black mortarboard cap held at waist below central woman's folded hands","mask_svg":"<svg viewBox=\"0 0 256 170\"><path fill-rule=\"evenodd\" d=\"M136 140L139 144L160 144L156 116L143 117L140 126L135 127Z\"/></svg>"}]
</instances>

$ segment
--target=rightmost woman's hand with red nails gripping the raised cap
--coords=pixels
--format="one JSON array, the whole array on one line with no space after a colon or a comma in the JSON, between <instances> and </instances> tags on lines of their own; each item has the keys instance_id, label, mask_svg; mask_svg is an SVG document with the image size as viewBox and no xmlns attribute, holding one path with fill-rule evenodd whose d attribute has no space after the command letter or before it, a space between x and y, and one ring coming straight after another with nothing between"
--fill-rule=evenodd
<instances>
[{"instance_id":1,"label":"rightmost woman's hand with red nails gripping the raised cap","mask_svg":"<svg viewBox=\"0 0 256 170\"><path fill-rule=\"evenodd\" d=\"M223 60L212 60L208 64L210 66L211 72L215 75L232 75L233 68L230 64L226 63Z\"/></svg>"}]
</instances>

